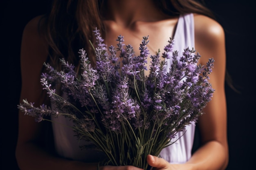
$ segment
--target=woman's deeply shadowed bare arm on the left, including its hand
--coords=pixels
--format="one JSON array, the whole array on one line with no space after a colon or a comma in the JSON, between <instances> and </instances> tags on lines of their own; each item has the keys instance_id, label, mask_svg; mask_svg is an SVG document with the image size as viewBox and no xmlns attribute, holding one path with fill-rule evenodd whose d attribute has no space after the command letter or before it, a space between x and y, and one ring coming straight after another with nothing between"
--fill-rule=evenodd
<instances>
[{"instance_id":1,"label":"woman's deeply shadowed bare arm on the left, including its hand","mask_svg":"<svg viewBox=\"0 0 256 170\"><path fill-rule=\"evenodd\" d=\"M22 89L20 102L27 99L35 102L35 106L49 104L43 87L40 84L40 75L43 62L47 59L48 46L42 35L38 33L40 17L31 20L25 27L22 35L20 62L22 75ZM97 170L98 163L83 163L70 161L47 152L41 145L46 139L45 123L36 122L34 117L19 113L18 141L16 159L20 170ZM49 141L51 143L53 141ZM133 166L105 166L104 170L141 170Z\"/></svg>"}]
</instances>

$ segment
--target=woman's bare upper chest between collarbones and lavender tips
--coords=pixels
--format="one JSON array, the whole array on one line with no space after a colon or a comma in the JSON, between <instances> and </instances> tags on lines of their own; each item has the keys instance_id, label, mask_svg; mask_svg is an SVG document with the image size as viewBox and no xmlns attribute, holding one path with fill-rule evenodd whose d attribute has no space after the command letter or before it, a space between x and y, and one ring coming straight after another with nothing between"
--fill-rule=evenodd
<instances>
[{"instance_id":1,"label":"woman's bare upper chest between collarbones and lavender tips","mask_svg":"<svg viewBox=\"0 0 256 170\"><path fill-rule=\"evenodd\" d=\"M151 58L150 55L155 55L160 51L160 60L164 60L162 53L164 52L164 47L168 44L168 40L173 38L175 33L175 28L177 25L177 19L163 20L159 22L145 23L136 22L132 26L121 27L117 24L108 21L106 22L106 37L104 38L104 43L107 46L113 45L117 48L117 37L119 35L124 37L124 44L130 44L133 47L134 55L140 55L143 37L148 36L148 44L146 45L148 52L150 53L147 57L146 66L149 68ZM126 46L124 46L126 48ZM119 52L117 52L119 56ZM121 59L120 59L121 60ZM148 75L149 70L146 71Z\"/></svg>"}]
</instances>

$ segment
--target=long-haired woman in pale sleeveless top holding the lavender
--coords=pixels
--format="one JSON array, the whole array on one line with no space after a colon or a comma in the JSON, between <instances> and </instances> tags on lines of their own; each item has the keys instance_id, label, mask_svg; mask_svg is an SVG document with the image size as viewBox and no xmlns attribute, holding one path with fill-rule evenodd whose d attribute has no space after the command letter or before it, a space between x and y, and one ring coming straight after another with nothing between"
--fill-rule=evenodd
<instances>
[{"instance_id":1,"label":"long-haired woman in pale sleeveless top holding the lavender","mask_svg":"<svg viewBox=\"0 0 256 170\"><path fill-rule=\"evenodd\" d=\"M162 158L148 155L147 161L155 169L224 170L228 163L224 89L225 35L220 24L211 18L209 10L196 1L54 0L49 13L34 18L24 29L21 46L20 99L35 102L36 106L49 104L49 99L40 84L43 62L50 62L60 69L58 60L64 57L78 66L77 52L84 48L87 49L88 57L94 65L95 59L89 40L94 42L92 30L95 27L101 30L104 43L108 46L116 44L115 40L121 34L124 36L125 44L139 47L141 38L149 35L148 48L150 53L155 53L158 49L163 51L166 42L172 37L175 40L174 49L182 52L187 46L194 47L202 56L202 64L210 57L214 57L210 82L216 91L204 109L206 114L198 120L202 146L191 155L195 130L195 126L191 125L177 144L161 152ZM134 49L135 54L138 54L139 49ZM53 124L54 141L51 141L48 134L45 136L45 122L37 123L33 117L24 116L23 113L19 116L16 158L21 170L98 168L100 153L98 155L90 150L80 152L77 144L71 139L71 132L67 132L67 129L61 129ZM56 152L48 152L45 149L45 140L47 144L55 142ZM99 168L140 169L133 166Z\"/></svg>"}]
</instances>

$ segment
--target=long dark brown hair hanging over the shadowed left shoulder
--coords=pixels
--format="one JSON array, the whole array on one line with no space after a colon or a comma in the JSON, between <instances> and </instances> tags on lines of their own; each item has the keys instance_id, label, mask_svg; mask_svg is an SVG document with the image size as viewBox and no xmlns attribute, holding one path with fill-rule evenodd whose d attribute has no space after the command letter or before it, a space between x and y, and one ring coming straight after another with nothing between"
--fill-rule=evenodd
<instances>
[{"instance_id":1,"label":"long dark brown hair hanging over the shadowed left shoulder","mask_svg":"<svg viewBox=\"0 0 256 170\"><path fill-rule=\"evenodd\" d=\"M52 0L52 6L42 18L43 29L49 44L48 62L61 69L59 59L79 64L78 51L86 49L93 54L89 40L94 42L92 30L103 29L98 0ZM92 64L93 55L88 55Z\"/></svg>"}]
</instances>

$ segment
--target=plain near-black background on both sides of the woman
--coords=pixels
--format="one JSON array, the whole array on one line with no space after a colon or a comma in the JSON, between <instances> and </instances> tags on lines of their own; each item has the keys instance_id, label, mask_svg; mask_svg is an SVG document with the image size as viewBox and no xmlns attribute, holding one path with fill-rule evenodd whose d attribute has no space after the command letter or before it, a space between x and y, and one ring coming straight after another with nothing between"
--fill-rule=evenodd
<instances>
[{"instance_id":1,"label":"plain near-black background on both sides of the woman","mask_svg":"<svg viewBox=\"0 0 256 170\"><path fill-rule=\"evenodd\" d=\"M17 104L21 84L19 55L22 31L29 20L45 12L49 2L50 0L0 2L0 170L18 170L14 152L18 130ZM236 93L226 86L230 154L227 170L254 169L254 1L206 0L206 4L226 31L227 69L234 85L241 92Z\"/></svg>"}]
</instances>

